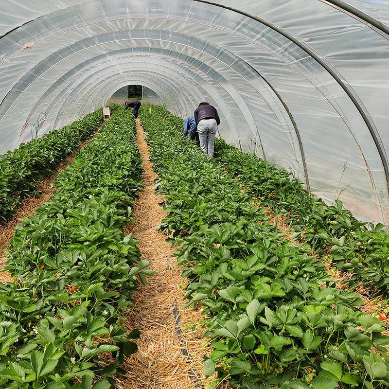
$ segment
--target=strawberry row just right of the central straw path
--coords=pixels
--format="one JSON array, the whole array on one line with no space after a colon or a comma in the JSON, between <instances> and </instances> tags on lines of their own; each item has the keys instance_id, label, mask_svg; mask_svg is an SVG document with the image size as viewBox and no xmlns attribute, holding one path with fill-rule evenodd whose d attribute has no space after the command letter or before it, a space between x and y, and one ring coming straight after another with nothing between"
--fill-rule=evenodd
<instances>
[{"instance_id":1,"label":"strawberry row just right of the central straw path","mask_svg":"<svg viewBox=\"0 0 389 389\"><path fill-rule=\"evenodd\" d=\"M389 337L355 308L358 296L330 287L309 246L267 224L238 182L180 135L182 120L143 106L141 122L169 212L160 229L178 245L188 305L208 317L206 374L251 389L387 387Z\"/></svg>"}]
</instances>

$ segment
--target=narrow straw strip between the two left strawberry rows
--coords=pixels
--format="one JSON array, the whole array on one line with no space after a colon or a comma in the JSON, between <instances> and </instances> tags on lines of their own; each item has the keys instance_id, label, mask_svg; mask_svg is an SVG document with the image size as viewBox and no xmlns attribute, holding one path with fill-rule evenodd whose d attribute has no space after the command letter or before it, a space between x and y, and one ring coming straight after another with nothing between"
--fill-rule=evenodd
<instances>
[{"instance_id":1,"label":"narrow straw strip between the two left strawberry rows","mask_svg":"<svg viewBox=\"0 0 389 389\"><path fill-rule=\"evenodd\" d=\"M58 177L59 173L64 170L69 164L71 164L75 158L75 155L85 147L85 145L91 141L93 136L100 131L101 126L94 132L92 136L88 138L88 140L81 142L75 154L71 154L68 156L65 162L61 162L57 166L57 170L55 173L50 176L44 178L41 182L36 183L36 189L39 193L39 196L31 196L24 199L23 203L17 210L15 217L7 223L0 224L0 269L5 266L7 261L7 256L5 251L7 250L7 243L14 236L14 230L19 225L18 219L25 219L33 214L35 214L36 209L46 204L53 195L53 192L57 190L57 188L52 187L52 183L55 178ZM0 273L0 283L12 282L11 274L8 271Z\"/></svg>"}]
</instances>

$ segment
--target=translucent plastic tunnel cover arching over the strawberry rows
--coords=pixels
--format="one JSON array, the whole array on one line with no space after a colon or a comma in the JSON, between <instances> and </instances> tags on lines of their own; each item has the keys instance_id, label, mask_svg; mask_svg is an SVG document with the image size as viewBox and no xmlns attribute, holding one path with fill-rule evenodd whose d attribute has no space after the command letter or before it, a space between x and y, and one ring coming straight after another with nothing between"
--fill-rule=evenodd
<instances>
[{"instance_id":1,"label":"translucent plastic tunnel cover arching over the strawberry rows","mask_svg":"<svg viewBox=\"0 0 389 389\"><path fill-rule=\"evenodd\" d=\"M141 84L389 223L387 0L2 0L0 36L0 153Z\"/></svg>"}]
</instances>

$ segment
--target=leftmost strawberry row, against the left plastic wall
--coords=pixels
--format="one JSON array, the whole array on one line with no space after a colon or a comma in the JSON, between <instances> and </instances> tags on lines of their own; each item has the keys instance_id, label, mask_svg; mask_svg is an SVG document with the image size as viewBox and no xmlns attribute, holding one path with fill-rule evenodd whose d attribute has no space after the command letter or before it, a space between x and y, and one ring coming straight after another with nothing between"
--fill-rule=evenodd
<instances>
[{"instance_id":1,"label":"leftmost strawberry row, against the left plastic wall","mask_svg":"<svg viewBox=\"0 0 389 389\"><path fill-rule=\"evenodd\" d=\"M112 105L115 111L117 105ZM21 201L36 191L36 182L54 173L103 120L103 110L88 114L60 130L23 143L0 156L0 221L10 220Z\"/></svg>"}]
</instances>

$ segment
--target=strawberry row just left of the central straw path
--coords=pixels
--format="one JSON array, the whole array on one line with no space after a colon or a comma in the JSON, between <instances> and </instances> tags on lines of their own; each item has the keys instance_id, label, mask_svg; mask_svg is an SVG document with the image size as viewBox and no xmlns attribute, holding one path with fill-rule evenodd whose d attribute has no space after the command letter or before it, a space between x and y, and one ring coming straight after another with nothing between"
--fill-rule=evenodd
<instances>
[{"instance_id":1,"label":"strawberry row just left of the central straw path","mask_svg":"<svg viewBox=\"0 0 389 389\"><path fill-rule=\"evenodd\" d=\"M124 236L141 188L134 117L119 110L54 181L52 199L21 221L0 285L0 386L94 389L111 386L136 350L120 315L132 303L140 261ZM106 378L102 378L106 377Z\"/></svg>"}]
</instances>

